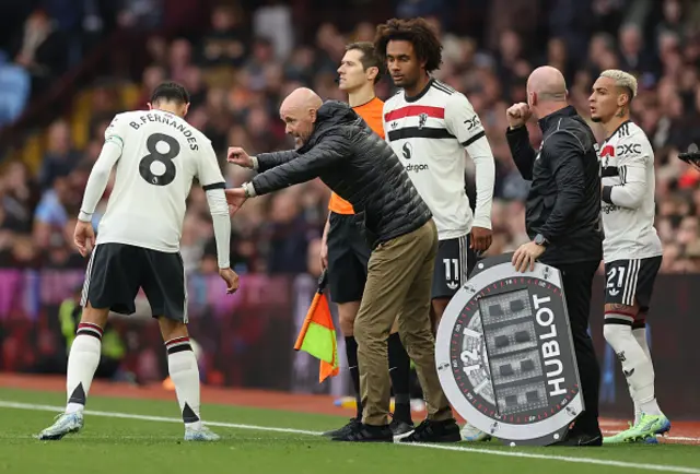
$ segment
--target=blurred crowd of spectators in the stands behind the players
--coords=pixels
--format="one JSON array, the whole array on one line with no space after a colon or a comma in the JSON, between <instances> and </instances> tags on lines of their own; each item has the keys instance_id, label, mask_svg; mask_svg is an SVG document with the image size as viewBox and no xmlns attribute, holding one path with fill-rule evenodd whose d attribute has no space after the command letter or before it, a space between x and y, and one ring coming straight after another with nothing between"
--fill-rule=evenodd
<instances>
[{"instance_id":1,"label":"blurred crowd of spectators in the stands behind the players","mask_svg":"<svg viewBox=\"0 0 700 474\"><path fill-rule=\"evenodd\" d=\"M156 1L145 3L158 11ZM373 39L372 23L361 22L345 32L334 23L323 23L315 42L300 44L292 7L284 2L247 12L245 21L241 10L228 3L211 10L208 33L194 39L148 38L144 47L150 66L139 78L140 94L135 102L120 103L108 87L95 90L85 123L89 141L82 150L73 145L69 117L59 118L47 131L37 176L30 176L20 163L5 168L0 176L0 266L84 265L72 248L72 229L104 130L115 112L145 107L150 91L164 79L187 86L192 97L187 119L211 139L222 165L230 144L252 153L291 146L278 106L293 88L307 85L324 98L345 99L335 82L336 69L348 42ZM444 27L443 3L448 2L393 4L395 13L425 15L441 31L444 62L435 75L466 93L487 130L497 159L494 239L489 253L513 250L527 239L523 206L527 182L513 165L504 131L506 107L526 99L529 72L545 63L559 68L567 78L571 103L587 117L590 88L597 73L619 68L639 78L633 118L656 150L656 228L665 246L662 271L700 271L700 173L677 159L679 151L700 143L699 4L680 0L494 0L486 12L483 37L474 38ZM121 15L122 22L133 22L135 13ZM151 17L143 19L148 26ZM548 32L546 46L534 47L532 38L542 28ZM5 63L16 66L9 59ZM1 68L0 61L0 82ZM377 94L386 98L392 93L385 78ZM537 144L537 125L532 123L529 130ZM594 130L602 132L595 125ZM223 166L231 185L247 178L248 171ZM474 201L472 173L471 167L468 189ZM328 197L325 186L313 181L247 202L233 220L235 269L242 273L317 273ZM182 247L187 270L214 272L215 247L201 189L194 187L190 201ZM98 218L96 215L95 223Z\"/></svg>"}]
</instances>

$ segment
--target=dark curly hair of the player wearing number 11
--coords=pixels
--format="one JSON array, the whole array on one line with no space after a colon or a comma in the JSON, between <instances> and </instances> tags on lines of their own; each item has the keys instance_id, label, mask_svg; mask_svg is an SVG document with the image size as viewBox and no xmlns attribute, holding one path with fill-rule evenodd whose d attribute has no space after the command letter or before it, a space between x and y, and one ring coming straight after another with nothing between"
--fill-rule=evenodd
<instances>
[{"instance_id":1,"label":"dark curly hair of the player wearing number 11","mask_svg":"<svg viewBox=\"0 0 700 474\"><path fill-rule=\"evenodd\" d=\"M386 45L392 39L410 42L418 59L425 61L425 72L440 69L442 44L435 31L424 19L392 19L378 25L376 27L376 37L374 38L374 48L383 58L386 57Z\"/></svg>"}]
</instances>

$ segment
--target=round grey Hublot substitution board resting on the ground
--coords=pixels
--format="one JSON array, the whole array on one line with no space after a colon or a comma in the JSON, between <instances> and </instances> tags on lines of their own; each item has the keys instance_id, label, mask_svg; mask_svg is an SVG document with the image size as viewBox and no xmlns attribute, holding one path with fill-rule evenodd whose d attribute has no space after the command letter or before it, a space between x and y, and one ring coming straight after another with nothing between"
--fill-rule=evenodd
<instances>
[{"instance_id":1,"label":"round grey Hublot substitution board resting on the ground","mask_svg":"<svg viewBox=\"0 0 700 474\"><path fill-rule=\"evenodd\" d=\"M453 407L511 446L564 438L583 411L559 270L480 261L440 322L435 365Z\"/></svg>"}]
</instances>

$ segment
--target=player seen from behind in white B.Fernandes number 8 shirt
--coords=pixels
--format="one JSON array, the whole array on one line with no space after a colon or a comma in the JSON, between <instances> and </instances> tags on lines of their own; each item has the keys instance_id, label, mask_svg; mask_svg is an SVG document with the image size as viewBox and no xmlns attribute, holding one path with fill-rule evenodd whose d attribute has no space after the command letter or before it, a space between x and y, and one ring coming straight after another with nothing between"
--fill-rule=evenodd
<instances>
[{"instance_id":1,"label":"player seen from behind in white B.Fernandes number 8 shirt","mask_svg":"<svg viewBox=\"0 0 700 474\"><path fill-rule=\"evenodd\" d=\"M197 178L211 210L219 274L226 283L226 293L237 289L238 275L229 266L231 220L225 183L211 142L183 119L189 108L189 94L183 86L170 82L159 85L149 108L114 118L88 180L74 241L83 257L90 254L90 262L82 295L84 309L68 357L68 403L66 412L39 434L39 439L61 439L83 427L107 315L110 310L133 313L140 288L165 341L185 440L219 439L202 425L199 415L199 369L186 327L187 288L179 240L185 201ZM93 250L91 217L113 168L114 190Z\"/></svg>"}]
</instances>

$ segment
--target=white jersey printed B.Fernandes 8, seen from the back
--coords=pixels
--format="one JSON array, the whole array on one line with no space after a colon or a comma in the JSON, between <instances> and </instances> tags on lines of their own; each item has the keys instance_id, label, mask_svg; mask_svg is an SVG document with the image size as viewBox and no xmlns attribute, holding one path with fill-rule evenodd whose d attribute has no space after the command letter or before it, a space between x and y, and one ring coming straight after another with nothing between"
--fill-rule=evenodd
<instances>
[{"instance_id":1,"label":"white jersey printed B.Fernandes 8, seen from the back","mask_svg":"<svg viewBox=\"0 0 700 474\"><path fill-rule=\"evenodd\" d=\"M197 177L205 190L224 187L211 142L163 110L118 114L105 140L120 146L121 156L96 244L178 251L192 179Z\"/></svg>"}]
</instances>

